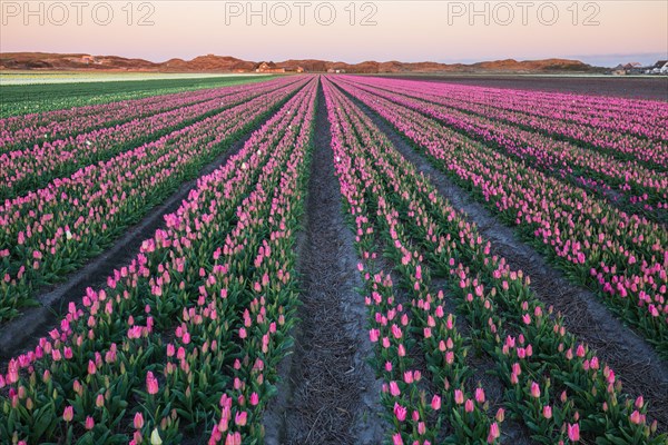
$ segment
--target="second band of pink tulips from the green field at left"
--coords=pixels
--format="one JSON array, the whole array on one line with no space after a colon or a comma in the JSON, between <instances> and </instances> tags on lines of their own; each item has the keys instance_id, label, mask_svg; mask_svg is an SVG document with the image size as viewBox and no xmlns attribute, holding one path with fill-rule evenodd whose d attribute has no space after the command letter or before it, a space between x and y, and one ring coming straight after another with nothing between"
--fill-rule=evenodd
<instances>
[{"instance_id":1,"label":"second band of pink tulips from the green field at left","mask_svg":"<svg viewBox=\"0 0 668 445\"><path fill-rule=\"evenodd\" d=\"M69 176L81 167L178 131L190 123L220 113L235 105L273 91L289 88L295 79L254 85L255 88L191 106L137 118L114 127L95 129L41 146L0 155L0 200L45 187L56 178Z\"/></svg>"}]
</instances>

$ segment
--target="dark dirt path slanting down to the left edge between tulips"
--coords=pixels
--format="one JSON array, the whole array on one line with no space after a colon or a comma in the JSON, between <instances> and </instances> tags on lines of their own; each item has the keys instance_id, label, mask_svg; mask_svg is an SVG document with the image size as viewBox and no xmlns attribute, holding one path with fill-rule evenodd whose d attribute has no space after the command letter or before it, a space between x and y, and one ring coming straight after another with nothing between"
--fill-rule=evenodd
<instances>
[{"instance_id":1,"label":"dark dirt path slanting down to the left edge between tulips","mask_svg":"<svg viewBox=\"0 0 668 445\"><path fill-rule=\"evenodd\" d=\"M141 221L129 227L125 235L114 243L104 254L90 260L86 266L71 274L67 281L46 289L36 299L41 306L23 310L19 317L0 326L0 364L11 357L30 349L40 337L57 326L67 312L70 301L78 303L86 294L86 288L98 288L107 283L107 277L129 264L137 255L141 243L153 237L156 229L165 222L165 215L176 211L181 201L188 197L191 189L197 187L197 179L223 166L238 152L253 131L266 122L274 113L267 115L262 121L234 142L224 154L212 164L204 167L197 178L184 182L167 200L155 207Z\"/></svg>"}]
</instances>

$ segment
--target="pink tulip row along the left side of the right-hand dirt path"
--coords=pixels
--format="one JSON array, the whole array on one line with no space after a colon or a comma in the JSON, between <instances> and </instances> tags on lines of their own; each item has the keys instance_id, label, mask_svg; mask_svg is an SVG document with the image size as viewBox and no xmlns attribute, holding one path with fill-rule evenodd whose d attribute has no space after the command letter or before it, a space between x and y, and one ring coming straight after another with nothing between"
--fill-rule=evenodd
<instances>
[{"instance_id":1,"label":"pink tulip row along the left side of the right-hand dirt path","mask_svg":"<svg viewBox=\"0 0 668 445\"><path fill-rule=\"evenodd\" d=\"M497 364L505 386L504 405L523 419L532 437L549 444L581 438L601 444L616 438L664 443L666 436L652 436L641 398L633 404L621 393L615 373L569 334L559 317L552 318L551 310L531 291L529 278L510 269L503 258L491 256L489 243L475 226L418 175L352 102L342 98L337 106L367 129L360 125L350 129L360 138L364 149L357 152L365 159L348 161L344 169L360 171L344 192L353 198L348 202L355 209L357 236L371 238L365 245L373 244L379 233L386 245L410 240L418 250L410 258L399 253L396 260L409 265L424 256L424 265L448 280L448 296L458 303L471 324L471 335ZM350 188L358 191L353 194ZM364 218L360 210L365 208L377 209L377 215ZM419 290L424 270L411 270L413 289ZM424 295L413 305L430 310L439 301ZM424 337L433 335L431 329ZM465 399L460 394L454 397L455 404ZM479 398L483 399L483 393L479 392ZM490 436L492 433L490 429Z\"/></svg>"}]
</instances>

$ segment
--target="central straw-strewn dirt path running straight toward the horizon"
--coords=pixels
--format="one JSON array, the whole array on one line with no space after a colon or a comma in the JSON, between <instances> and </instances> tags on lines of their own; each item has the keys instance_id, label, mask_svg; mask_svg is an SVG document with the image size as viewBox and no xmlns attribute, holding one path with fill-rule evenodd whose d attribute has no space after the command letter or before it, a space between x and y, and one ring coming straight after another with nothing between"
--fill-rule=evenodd
<instances>
[{"instance_id":1,"label":"central straw-strewn dirt path running straight toward the horizon","mask_svg":"<svg viewBox=\"0 0 668 445\"><path fill-rule=\"evenodd\" d=\"M334 176L331 132L322 87L299 243L301 319L295 349L281 365L278 397L265 415L265 442L274 444L380 444L381 382L366 359L363 286L351 230Z\"/></svg>"}]
</instances>

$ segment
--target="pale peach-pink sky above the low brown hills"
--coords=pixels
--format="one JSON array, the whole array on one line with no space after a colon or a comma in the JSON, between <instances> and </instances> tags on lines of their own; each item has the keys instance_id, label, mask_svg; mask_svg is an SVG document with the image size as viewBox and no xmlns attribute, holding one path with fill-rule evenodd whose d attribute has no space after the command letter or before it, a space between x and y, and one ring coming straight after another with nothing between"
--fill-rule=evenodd
<instances>
[{"instance_id":1,"label":"pale peach-pink sky above the low brown hills","mask_svg":"<svg viewBox=\"0 0 668 445\"><path fill-rule=\"evenodd\" d=\"M164 61L668 59L668 1L0 0L0 50Z\"/></svg>"}]
</instances>

